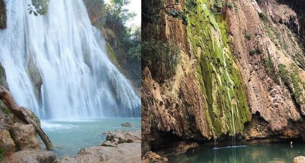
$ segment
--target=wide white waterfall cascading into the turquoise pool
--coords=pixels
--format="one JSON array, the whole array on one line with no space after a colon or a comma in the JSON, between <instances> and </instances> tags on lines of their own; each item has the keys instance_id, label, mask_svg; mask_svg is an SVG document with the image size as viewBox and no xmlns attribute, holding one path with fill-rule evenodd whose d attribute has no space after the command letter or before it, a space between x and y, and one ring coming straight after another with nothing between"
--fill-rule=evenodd
<instances>
[{"instance_id":1,"label":"wide white waterfall cascading into the turquoise pool","mask_svg":"<svg viewBox=\"0 0 305 163\"><path fill-rule=\"evenodd\" d=\"M40 118L140 117L140 99L109 60L83 0L50 0L45 16L30 15L30 3L8 0L0 30L0 62L17 103Z\"/></svg>"}]
</instances>

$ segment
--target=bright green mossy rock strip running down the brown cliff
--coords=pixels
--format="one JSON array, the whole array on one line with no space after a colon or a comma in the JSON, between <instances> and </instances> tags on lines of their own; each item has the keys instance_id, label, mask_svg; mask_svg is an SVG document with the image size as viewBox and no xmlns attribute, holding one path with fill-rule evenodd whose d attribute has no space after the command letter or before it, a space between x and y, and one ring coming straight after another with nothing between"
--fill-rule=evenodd
<instances>
[{"instance_id":1,"label":"bright green mossy rock strip running down the brown cliff","mask_svg":"<svg viewBox=\"0 0 305 163\"><path fill-rule=\"evenodd\" d=\"M203 109L209 127L215 137L242 133L244 123L250 120L250 111L241 73L229 50L226 21L210 11L213 1L196 0L196 3L196 10L186 15L186 30L199 63L198 80L208 102Z\"/></svg>"}]
</instances>

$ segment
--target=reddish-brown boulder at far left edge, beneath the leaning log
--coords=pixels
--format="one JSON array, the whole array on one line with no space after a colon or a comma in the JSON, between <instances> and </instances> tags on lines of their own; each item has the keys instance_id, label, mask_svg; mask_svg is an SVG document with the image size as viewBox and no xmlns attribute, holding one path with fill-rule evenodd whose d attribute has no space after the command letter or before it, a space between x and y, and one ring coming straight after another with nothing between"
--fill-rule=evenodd
<instances>
[{"instance_id":1,"label":"reddish-brown boulder at far left edge, beneath the leaning log","mask_svg":"<svg viewBox=\"0 0 305 163\"><path fill-rule=\"evenodd\" d=\"M5 153L16 151L15 142L7 130L0 130L0 149Z\"/></svg>"}]
</instances>

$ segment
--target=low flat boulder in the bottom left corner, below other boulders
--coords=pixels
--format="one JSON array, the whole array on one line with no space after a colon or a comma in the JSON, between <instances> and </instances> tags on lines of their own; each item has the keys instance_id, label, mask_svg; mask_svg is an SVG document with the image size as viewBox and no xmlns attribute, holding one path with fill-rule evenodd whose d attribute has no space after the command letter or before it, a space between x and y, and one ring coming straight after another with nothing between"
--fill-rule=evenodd
<instances>
[{"instance_id":1,"label":"low flat boulder in the bottom left corner, below other boulders","mask_svg":"<svg viewBox=\"0 0 305 163\"><path fill-rule=\"evenodd\" d=\"M55 159L51 151L23 150L5 155L1 163L53 163Z\"/></svg>"}]
</instances>

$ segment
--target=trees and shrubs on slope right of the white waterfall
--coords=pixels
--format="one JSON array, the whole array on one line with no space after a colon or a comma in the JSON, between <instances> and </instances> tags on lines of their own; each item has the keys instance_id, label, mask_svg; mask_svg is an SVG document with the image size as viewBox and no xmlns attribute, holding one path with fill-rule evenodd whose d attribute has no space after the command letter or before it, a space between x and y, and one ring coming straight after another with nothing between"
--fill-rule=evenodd
<instances>
[{"instance_id":1,"label":"trees and shrubs on slope right of the white waterfall","mask_svg":"<svg viewBox=\"0 0 305 163\"><path fill-rule=\"evenodd\" d=\"M105 40L114 63L118 63L124 74L133 81L136 87L141 87L141 28L139 25L127 27L126 23L135 14L126 5L129 0L84 0L93 26L99 28Z\"/></svg>"}]
</instances>

